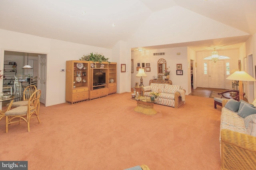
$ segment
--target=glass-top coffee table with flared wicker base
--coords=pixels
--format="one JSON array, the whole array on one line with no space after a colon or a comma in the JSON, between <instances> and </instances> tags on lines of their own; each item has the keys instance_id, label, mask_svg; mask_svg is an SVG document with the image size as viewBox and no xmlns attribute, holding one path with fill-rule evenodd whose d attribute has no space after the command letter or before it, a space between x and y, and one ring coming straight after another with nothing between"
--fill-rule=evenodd
<instances>
[{"instance_id":1,"label":"glass-top coffee table with flared wicker base","mask_svg":"<svg viewBox=\"0 0 256 170\"><path fill-rule=\"evenodd\" d=\"M156 110L154 109L154 103L160 102L159 98L157 100L150 100L150 98L145 96L131 97L132 100L137 101L137 106L134 111L143 113L145 115L155 115Z\"/></svg>"}]
</instances>

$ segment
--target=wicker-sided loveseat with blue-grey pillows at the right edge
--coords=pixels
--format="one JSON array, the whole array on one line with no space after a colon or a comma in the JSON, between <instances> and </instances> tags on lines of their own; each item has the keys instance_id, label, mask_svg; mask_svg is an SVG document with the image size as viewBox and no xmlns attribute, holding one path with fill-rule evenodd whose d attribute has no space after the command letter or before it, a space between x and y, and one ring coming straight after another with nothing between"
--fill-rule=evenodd
<instances>
[{"instance_id":1,"label":"wicker-sided loveseat with blue-grey pillows at the right edge","mask_svg":"<svg viewBox=\"0 0 256 170\"><path fill-rule=\"evenodd\" d=\"M256 100L222 101L220 156L222 170L256 169ZM250 114L250 115L249 115ZM254 123L255 122L255 123Z\"/></svg>"}]
</instances>

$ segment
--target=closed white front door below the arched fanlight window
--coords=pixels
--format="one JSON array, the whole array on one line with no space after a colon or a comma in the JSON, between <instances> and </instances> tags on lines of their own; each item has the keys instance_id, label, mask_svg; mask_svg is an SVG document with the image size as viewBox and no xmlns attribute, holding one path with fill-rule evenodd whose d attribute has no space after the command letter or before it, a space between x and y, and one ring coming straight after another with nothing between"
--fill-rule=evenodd
<instances>
[{"instance_id":1,"label":"closed white front door below the arched fanlight window","mask_svg":"<svg viewBox=\"0 0 256 170\"><path fill-rule=\"evenodd\" d=\"M209 62L209 87L225 88L224 61Z\"/></svg>"}]
</instances>

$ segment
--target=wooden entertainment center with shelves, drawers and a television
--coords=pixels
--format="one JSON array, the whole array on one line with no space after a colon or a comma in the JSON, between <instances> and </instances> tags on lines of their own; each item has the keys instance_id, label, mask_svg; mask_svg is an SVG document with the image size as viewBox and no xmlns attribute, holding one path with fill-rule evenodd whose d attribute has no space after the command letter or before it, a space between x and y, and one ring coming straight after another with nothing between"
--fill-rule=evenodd
<instances>
[{"instance_id":1,"label":"wooden entertainment center with shelves, drawers and a television","mask_svg":"<svg viewBox=\"0 0 256 170\"><path fill-rule=\"evenodd\" d=\"M66 103L75 104L116 93L116 63L66 61Z\"/></svg>"}]
</instances>

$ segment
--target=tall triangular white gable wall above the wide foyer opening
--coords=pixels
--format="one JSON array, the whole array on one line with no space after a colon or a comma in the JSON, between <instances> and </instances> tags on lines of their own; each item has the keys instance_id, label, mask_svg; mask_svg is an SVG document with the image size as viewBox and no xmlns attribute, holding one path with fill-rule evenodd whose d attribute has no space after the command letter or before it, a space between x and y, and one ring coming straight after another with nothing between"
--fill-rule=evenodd
<instances>
[{"instance_id":1,"label":"tall triangular white gable wall above the wide foyer opening","mask_svg":"<svg viewBox=\"0 0 256 170\"><path fill-rule=\"evenodd\" d=\"M132 47L165 45L223 37L248 35L180 6L152 13L129 42ZM169 16L169 17L166 17ZM172 17L175 16L175 17Z\"/></svg>"}]
</instances>

